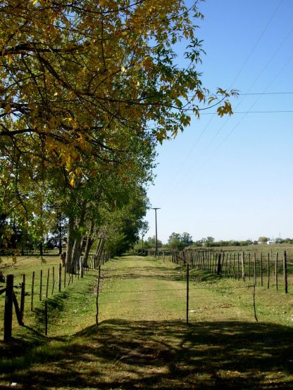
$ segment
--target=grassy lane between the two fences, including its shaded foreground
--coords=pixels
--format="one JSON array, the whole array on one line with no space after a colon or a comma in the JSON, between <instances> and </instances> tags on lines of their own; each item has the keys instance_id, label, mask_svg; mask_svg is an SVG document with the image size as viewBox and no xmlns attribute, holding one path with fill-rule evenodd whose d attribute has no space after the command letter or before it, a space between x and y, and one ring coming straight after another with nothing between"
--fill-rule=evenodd
<instances>
[{"instance_id":1,"label":"grassy lane between the two fences, including its shaded foreground","mask_svg":"<svg viewBox=\"0 0 293 390\"><path fill-rule=\"evenodd\" d=\"M49 337L41 305L33 328L0 344L1 389L293 389L292 295L257 287L256 323L249 282L190 279L186 325L185 268L112 259L96 327L89 271L49 299Z\"/></svg>"}]
</instances>

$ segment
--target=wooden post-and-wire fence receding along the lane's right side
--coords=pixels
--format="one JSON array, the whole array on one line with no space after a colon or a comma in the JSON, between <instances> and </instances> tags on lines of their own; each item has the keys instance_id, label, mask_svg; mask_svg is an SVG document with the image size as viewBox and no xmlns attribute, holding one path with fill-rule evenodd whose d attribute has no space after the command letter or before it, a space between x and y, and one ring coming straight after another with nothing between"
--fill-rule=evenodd
<instances>
[{"instance_id":1,"label":"wooden post-and-wire fence receding along the lane's right side","mask_svg":"<svg viewBox=\"0 0 293 390\"><path fill-rule=\"evenodd\" d=\"M149 256L156 252L149 251ZM292 257L292 255L290 255ZM215 251L185 250L161 251L158 258L175 264L216 273L224 278L251 280L255 285L274 288L284 292L293 292L293 259L286 251L251 252L251 251Z\"/></svg>"}]
</instances>

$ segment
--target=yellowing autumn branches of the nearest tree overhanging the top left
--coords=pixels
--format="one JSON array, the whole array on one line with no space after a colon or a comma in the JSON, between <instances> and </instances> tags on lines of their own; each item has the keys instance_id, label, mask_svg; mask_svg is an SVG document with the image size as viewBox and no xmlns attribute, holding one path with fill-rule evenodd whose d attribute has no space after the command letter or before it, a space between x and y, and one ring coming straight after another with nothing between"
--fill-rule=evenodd
<instances>
[{"instance_id":1,"label":"yellowing autumn branches of the nearest tree overhanging the top left","mask_svg":"<svg viewBox=\"0 0 293 390\"><path fill-rule=\"evenodd\" d=\"M83 155L108 162L124 150L118 128L122 139L175 136L206 101L198 18L196 3L178 0L4 0L0 149L9 143L61 165L73 183ZM184 69L175 64L178 42L187 46ZM229 93L218 96L218 115L231 114Z\"/></svg>"}]
</instances>

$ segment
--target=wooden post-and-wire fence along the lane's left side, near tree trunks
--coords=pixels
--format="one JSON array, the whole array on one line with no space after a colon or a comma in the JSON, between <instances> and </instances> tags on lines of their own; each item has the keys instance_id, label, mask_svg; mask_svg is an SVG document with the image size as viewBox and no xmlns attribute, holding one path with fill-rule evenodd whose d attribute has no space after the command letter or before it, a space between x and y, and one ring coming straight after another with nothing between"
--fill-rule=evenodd
<instances>
[{"instance_id":1,"label":"wooden post-and-wire fence along the lane's left side, near tree trunks","mask_svg":"<svg viewBox=\"0 0 293 390\"><path fill-rule=\"evenodd\" d=\"M99 268L104 265L111 256L102 253L99 259L96 256L89 256L87 263L80 259L82 265L75 273L67 273L66 267L59 264L57 267L46 267L39 271L32 271L30 275L6 275L6 285L0 287L0 296L4 297L4 341L12 337L13 331L13 306L18 325L25 325L25 316L34 316L35 308L43 310L45 334L48 333L48 299L54 294L66 290L75 280L83 278L90 269ZM54 315L54 313L51 313Z\"/></svg>"}]
</instances>

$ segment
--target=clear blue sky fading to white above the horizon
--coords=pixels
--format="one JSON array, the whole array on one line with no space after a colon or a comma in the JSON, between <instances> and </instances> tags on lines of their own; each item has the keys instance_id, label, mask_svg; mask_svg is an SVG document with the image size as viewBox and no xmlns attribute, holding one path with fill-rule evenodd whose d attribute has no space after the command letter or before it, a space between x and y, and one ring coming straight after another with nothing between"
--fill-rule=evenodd
<instances>
[{"instance_id":1,"label":"clear blue sky fading to white above the horizon","mask_svg":"<svg viewBox=\"0 0 293 390\"><path fill-rule=\"evenodd\" d=\"M293 111L293 1L206 0L199 10L204 86L262 94L230 100L247 113L194 117L158 145L148 191L151 206L161 207L158 238L292 238L293 112L259 111ZM155 235L154 210L146 221L146 237Z\"/></svg>"}]
</instances>

